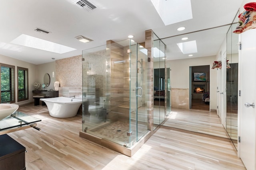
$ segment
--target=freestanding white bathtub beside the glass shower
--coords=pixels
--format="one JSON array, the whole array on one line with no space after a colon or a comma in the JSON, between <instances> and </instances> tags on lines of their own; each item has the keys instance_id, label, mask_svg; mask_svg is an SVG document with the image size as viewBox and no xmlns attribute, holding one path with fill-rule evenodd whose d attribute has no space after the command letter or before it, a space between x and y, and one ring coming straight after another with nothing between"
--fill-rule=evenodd
<instances>
[{"instance_id":1,"label":"freestanding white bathtub beside the glass shower","mask_svg":"<svg viewBox=\"0 0 256 170\"><path fill-rule=\"evenodd\" d=\"M82 104L82 99L68 97L41 98L40 100L45 102L50 115L58 118L74 117Z\"/></svg>"}]
</instances>

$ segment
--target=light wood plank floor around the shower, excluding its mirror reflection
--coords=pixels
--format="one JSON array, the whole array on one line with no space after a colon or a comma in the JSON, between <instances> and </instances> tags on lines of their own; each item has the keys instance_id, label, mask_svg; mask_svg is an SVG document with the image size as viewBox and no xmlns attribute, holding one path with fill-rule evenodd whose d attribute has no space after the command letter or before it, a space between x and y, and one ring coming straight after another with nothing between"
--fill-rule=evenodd
<instances>
[{"instance_id":1,"label":"light wood plank floor around the shower, excluding its mirror reflection","mask_svg":"<svg viewBox=\"0 0 256 170\"><path fill-rule=\"evenodd\" d=\"M160 128L128 157L80 138L81 115L54 118L32 104L18 110L42 119L41 131L8 134L26 147L27 170L245 170L229 141Z\"/></svg>"}]
</instances>

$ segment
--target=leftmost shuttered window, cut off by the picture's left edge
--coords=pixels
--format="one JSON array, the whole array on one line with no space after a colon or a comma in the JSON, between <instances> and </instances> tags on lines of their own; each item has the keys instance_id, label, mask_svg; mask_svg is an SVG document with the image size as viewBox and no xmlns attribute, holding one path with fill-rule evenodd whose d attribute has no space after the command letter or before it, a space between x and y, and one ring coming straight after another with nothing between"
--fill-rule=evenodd
<instances>
[{"instance_id":1,"label":"leftmost shuttered window, cut off by the picture's left edge","mask_svg":"<svg viewBox=\"0 0 256 170\"><path fill-rule=\"evenodd\" d=\"M2 64L1 66L1 103L14 103L15 102L15 79L14 70L15 66Z\"/></svg>"}]
</instances>

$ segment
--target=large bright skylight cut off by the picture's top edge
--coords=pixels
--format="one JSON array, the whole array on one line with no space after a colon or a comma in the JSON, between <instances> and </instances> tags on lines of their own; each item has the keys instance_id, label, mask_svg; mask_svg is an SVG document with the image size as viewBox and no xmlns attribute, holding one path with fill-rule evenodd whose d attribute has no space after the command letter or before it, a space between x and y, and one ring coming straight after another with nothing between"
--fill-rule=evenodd
<instances>
[{"instance_id":1,"label":"large bright skylight cut off by the picture's top edge","mask_svg":"<svg viewBox=\"0 0 256 170\"><path fill-rule=\"evenodd\" d=\"M151 2L164 25L193 18L190 0L151 0Z\"/></svg>"}]
</instances>

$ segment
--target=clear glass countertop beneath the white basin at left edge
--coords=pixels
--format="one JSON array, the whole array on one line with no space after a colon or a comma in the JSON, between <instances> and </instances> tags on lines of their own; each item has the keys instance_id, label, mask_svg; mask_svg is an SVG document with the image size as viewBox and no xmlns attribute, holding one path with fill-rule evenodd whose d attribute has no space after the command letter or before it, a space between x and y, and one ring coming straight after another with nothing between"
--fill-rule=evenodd
<instances>
[{"instance_id":1,"label":"clear glass countertop beneath the white basin at left edge","mask_svg":"<svg viewBox=\"0 0 256 170\"><path fill-rule=\"evenodd\" d=\"M25 113L22 113L20 111L15 111L9 117L6 117L0 120L0 132L6 129L14 128L14 127L22 127L23 125L30 125L38 121L42 121L42 120L30 115L26 115Z\"/></svg>"}]
</instances>

